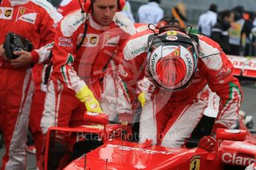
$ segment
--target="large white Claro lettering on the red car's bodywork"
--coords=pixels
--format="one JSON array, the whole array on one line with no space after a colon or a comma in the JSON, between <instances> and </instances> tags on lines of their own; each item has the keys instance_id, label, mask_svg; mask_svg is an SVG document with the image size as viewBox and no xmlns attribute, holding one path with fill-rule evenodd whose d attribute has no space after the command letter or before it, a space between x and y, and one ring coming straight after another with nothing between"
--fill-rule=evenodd
<instances>
[{"instance_id":1,"label":"large white Claro lettering on the red car's bodywork","mask_svg":"<svg viewBox=\"0 0 256 170\"><path fill-rule=\"evenodd\" d=\"M221 156L223 163L228 163L236 166L249 166L252 163L255 163L256 160L252 157L242 157L237 156L237 154L231 154L229 152L224 153Z\"/></svg>"}]
</instances>

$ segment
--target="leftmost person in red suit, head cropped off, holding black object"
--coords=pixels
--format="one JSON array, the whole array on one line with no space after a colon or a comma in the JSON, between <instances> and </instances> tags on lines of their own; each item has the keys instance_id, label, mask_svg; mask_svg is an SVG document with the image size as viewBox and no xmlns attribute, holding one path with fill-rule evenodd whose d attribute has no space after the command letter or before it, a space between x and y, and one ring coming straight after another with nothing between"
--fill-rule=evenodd
<instances>
[{"instance_id":1,"label":"leftmost person in red suit, head cropped off, holding black object","mask_svg":"<svg viewBox=\"0 0 256 170\"><path fill-rule=\"evenodd\" d=\"M0 128L6 149L1 169L25 169L27 123L34 92L30 65L47 61L53 47L56 13L47 1L0 3ZM34 50L16 51L18 58L7 59L3 44L10 32L27 38Z\"/></svg>"}]
</instances>

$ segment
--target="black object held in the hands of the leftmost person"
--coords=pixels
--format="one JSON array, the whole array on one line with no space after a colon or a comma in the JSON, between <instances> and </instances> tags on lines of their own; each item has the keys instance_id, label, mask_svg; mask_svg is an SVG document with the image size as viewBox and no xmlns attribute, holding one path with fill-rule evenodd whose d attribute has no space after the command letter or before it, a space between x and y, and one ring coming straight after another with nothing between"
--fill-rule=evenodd
<instances>
[{"instance_id":1,"label":"black object held in the hands of the leftmost person","mask_svg":"<svg viewBox=\"0 0 256 170\"><path fill-rule=\"evenodd\" d=\"M24 50L30 52L33 50L33 44L27 38L11 32L6 35L3 46L6 57L9 60L13 60L19 57L19 55L13 54L14 51Z\"/></svg>"}]
</instances>

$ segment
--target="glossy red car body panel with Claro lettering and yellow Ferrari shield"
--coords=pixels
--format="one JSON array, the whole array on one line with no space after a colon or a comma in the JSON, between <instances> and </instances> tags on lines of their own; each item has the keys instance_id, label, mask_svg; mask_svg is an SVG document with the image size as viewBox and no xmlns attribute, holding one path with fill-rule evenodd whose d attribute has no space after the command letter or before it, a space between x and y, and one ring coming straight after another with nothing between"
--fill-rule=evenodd
<instances>
[{"instance_id":1,"label":"glossy red car body panel with Claro lettering and yellow Ferrari shield","mask_svg":"<svg viewBox=\"0 0 256 170\"><path fill-rule=\"evenodd\" d=\"M224 140L217 152L177 149L113 140L73 160L65 169L224 169L226 164L248 166L255 162L256 146L249 141Z\"/></svg>"}]
</instances>

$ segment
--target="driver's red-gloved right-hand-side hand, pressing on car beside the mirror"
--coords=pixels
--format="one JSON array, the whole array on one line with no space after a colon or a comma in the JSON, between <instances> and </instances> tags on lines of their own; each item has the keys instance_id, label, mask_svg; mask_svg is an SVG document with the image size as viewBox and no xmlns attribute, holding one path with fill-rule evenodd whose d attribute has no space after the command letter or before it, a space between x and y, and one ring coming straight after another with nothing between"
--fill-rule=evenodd
<instances>
[{"instance_id":1,"label":"driver's red-gloved right-hand-side hand, pressing on car beside the mirror","mask_svg":"<svg viewBox=\"0 0 256 170\"><path fill-rule=\"evenodd\" d=\"M205 149L208 152L213 152L216 146L216 139L212 136L204 136L200 139L198 147Z\"/></svg>"}]
</instances>

